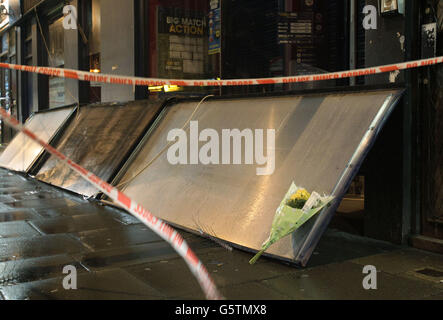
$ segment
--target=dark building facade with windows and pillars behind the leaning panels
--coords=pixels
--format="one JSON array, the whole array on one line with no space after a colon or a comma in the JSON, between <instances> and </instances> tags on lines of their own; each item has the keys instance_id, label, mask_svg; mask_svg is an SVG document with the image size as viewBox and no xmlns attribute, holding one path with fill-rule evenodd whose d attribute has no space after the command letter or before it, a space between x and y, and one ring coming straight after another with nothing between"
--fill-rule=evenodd
<instances>
[{"instance_id":1,"label":"dark building facade with windows and pillars behind the leaning panels","mask_svg":"<svg viewBox=\"0 0 443 320\"><path fill-rule=\"evenodd\" d=\"M2 3L1 62L23 65L157 78L241 79L349 70L443 54L442 0ZM75 8L77 28L64 27L67 5ZM404 87L401 105L350 192L364 194L363 235L433 250L439 247L433 239L443 239L442 66L313 84L223 89L133 88L0 72L2 107L21 121L63 105L167 94ZM2 141L12 136L2 126Z\"/></svg>"}]
</instances>

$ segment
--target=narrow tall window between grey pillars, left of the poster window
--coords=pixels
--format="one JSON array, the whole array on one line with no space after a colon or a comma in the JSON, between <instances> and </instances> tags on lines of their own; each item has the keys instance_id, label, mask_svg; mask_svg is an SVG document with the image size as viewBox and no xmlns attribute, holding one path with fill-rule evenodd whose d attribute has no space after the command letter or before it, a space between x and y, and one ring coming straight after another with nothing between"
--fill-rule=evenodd
<instances>
[{"instance_id":1,"label":"narrow tall window between grey pillars, left of the poster window","mask_svg":"<svg viewBox=\"0 0 443 320\"><path fill-rule=\"evenodd\" d=\"M49 25L49 66L63 68L64 59L63 17ZM65 104L65 80L58 77L49 78L49 106L51 108Z\"/></svg>"}]
</instances>

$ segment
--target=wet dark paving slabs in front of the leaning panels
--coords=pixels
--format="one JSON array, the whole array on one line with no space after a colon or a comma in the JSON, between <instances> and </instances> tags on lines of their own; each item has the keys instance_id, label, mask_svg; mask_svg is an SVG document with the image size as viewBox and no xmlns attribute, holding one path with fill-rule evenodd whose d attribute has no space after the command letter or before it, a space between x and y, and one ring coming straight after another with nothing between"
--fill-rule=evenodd
<instances>
[{"instance_id":1,"label":"wet dark paving slabs in front of the leaning panels","mask_svg":"<svg viewBox=\"0 0 443 320\"><path fill-rule=\"evenodd\" d=\"M306 269L182 232L228 299L443 299L443 257L329 230ZM78 289L63 289L63 268ZM364 290L363 267L378 270ZM124 211L0 169L1 299L203 299L172 248Z\"/></svg>"}]
</instances>

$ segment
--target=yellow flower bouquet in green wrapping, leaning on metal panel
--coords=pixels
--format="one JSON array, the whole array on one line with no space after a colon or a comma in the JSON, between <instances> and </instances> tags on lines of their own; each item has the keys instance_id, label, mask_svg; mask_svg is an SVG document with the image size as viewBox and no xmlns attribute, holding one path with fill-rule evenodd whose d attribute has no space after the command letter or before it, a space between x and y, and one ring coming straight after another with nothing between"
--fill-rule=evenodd
<instances>
[{"instance_id":1,"label":"yellow flower bouquet in green wrapping, leaning on metal panel","mask_svg":"<svg viewBox=\"0 0 443 320\"><path fill-rule=\"evenodd\" d=\"M331 196L320 196L317 192L310 194L306 189L292 183L277 209L268 240L263 243L261 251L249 263L256 263L271 245L292 234L328 206L333 199L334 197Z\"/></svg>"}]
</instances>

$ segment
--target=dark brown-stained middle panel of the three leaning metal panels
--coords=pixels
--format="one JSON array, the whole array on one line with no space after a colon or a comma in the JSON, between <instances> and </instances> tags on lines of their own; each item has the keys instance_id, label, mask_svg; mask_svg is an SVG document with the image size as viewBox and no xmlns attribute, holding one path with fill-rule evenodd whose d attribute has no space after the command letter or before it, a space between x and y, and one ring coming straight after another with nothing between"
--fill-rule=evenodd
<instances>
[{"instance_id":1,"label":"dark brown-stained middle panel of the three leaning metal panels","mask_svg":"<svg viewBox=\"0 0 443 320\"><path fill-rule=\"evenodd\" d=\"M56 148L104 181L113 178L155 119L164 101L82 107ZM89 182L56 158L49 158L37 179L88 197L98 193Z\"/></svg>"}]
</instances>

